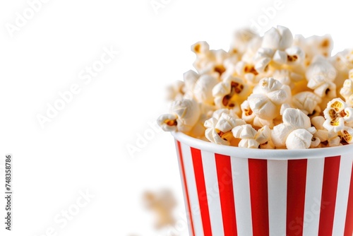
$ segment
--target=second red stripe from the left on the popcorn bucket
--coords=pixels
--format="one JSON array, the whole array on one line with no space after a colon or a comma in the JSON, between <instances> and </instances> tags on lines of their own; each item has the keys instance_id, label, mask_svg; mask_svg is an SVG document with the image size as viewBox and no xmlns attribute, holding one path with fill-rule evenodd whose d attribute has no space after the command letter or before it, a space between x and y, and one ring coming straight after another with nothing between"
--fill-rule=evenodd
<instances>
[{"instance_id":1,"label":"second red stripe from the left on the popcorn bucket","mask_svg":"<svg viewBox=\"0 0 353 236\"><path fill-rule=\"evenodd\" d=\"M196 148L191 148L191 156L193 158L193 171L195 172L196 188L198 190L198 203L200 204L203 235L212 236L210 211L208 210L208 200L205 185L205 175L203 175L201 151Z\"/></svg>"}]
</instances>

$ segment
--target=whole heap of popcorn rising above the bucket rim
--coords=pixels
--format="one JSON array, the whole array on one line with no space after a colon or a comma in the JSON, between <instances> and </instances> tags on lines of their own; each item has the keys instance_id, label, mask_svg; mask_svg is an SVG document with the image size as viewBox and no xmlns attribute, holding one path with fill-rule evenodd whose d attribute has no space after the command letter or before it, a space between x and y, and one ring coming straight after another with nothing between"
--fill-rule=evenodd
<instances>
[{"instance_id":1,"label":"whole heap of popcorn rising above the bucket rim","mask_svg":"<svg viewBox=\"0 0 353 236\"><path fill-rule=\"evenodd\" d=\"M191 46L196 71L168 88L157 123L242 148L324 148L353 143L353 49L331 56L330 35L293 37L278 25L243 29L228 52Z\"/></svg>"}]
</instances>

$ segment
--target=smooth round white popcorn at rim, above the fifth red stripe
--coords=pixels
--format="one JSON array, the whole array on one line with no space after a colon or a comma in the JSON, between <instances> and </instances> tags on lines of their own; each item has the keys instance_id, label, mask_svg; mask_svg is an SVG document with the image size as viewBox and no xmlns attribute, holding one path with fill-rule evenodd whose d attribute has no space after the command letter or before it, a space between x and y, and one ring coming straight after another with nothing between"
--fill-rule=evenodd
<instances>
[{"instance_id":1,"label":"smooth round white popcorn at rim, above the fifth red stripe","mask_svg":"<svg viewBox=\"0 0 353 236\"><path fill-rule=\"evenodd\" d=\"M292 131L286 140L288 149L305 149L311 145L311 138L313 135L306 129L296 129Z\"/></svg>"}]
</instances>

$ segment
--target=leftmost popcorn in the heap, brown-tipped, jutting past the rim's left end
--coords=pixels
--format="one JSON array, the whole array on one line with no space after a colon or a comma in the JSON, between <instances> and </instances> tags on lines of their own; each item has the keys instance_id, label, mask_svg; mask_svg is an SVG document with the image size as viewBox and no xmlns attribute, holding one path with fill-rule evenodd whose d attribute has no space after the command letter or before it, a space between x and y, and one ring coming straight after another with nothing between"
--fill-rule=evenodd
<instances>
[{"instance_id":1,"label":"leftmost popcorn in the heap, brown-tipped, jutting past the rim's left end","mask_svg":"<svg viewBox=\"0 0 353 236\"><path fill-rule=\"evenodd\" d=\"M188 133L201 116L200 107L195 100L183 99L172 102L169 114L162 114L157 119L164 131Z\"/></svg>"}]
</instances>

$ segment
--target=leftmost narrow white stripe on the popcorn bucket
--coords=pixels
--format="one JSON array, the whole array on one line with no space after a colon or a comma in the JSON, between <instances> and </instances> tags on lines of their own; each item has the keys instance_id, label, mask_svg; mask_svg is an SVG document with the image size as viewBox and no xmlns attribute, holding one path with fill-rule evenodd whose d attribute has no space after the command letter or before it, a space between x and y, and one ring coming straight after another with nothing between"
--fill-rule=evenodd
<instances>
[{"instance_id":1,"label":"leftmost narrow white stripe on the popcorn bucket","mask_svg":"<svg viewBox=\"0 0 353 236\"><path fill-rule=\"evenodd\" d=\"M186 175L186 184L188 184L191 215L193 216L193 226L195 234L203 235L203 225L201 219L200 204L198 202L198 192L196 188L195 172L193 171L193 160L191 157L191 148L181 143L181 151L184 158L184 168Z\"/></svg>"}]
</instances>

